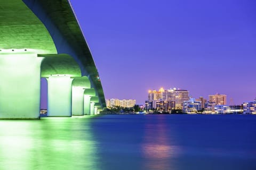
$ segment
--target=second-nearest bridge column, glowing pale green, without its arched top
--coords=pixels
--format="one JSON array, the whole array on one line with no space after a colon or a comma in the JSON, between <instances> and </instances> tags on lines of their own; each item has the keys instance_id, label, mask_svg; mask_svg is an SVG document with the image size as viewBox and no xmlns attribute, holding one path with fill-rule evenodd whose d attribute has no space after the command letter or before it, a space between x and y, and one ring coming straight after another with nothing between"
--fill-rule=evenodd
<instances>
[{"instance_id":1,"label":"second-nearest bridge column, glowing pale green, without its arched top","mask_svg":"<svg viewBox=\"0 0 256 170\"><path fill-rule=\"evenodd\" d=\"M72 81L70 77L58 77L58 75L47 78L47 116L71 116Z\"/></svg>"}]
</instances>

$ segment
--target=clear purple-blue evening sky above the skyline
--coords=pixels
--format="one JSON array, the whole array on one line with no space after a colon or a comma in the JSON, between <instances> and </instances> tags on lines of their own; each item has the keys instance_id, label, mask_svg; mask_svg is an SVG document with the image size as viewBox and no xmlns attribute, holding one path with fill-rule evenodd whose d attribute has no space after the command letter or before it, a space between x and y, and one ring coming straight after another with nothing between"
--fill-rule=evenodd
<instances>
[{"instance_id":1,"label":"clear purple-blue evening sky above the skyline","mask_svg":"<svg viewBox=\"0 0 256 170\"><path fill-rule=\"evenodd\" d=\"M70 0L106 98L177 87L193 97L256 97L256 1Z\"/></svg>"}]
</instances>

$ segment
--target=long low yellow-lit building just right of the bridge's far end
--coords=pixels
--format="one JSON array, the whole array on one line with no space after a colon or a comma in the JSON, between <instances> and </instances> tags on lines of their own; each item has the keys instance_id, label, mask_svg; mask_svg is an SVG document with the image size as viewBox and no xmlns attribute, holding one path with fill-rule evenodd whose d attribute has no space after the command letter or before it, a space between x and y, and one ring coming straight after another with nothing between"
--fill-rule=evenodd
<instances>
[{"instance_id":1,"label":"long low yellow-lit building just right of the bridge's far end","mask_svg":"<svg viewBox=\"0 0 256 170\"><path fill-rule=\"evenodd\" d=\"M133 107L136 104L136 100L133 99L107 99L106 100L107 103L107 107L111 108L111 107L115 107L115 106L120 106L120 107Z\"/></svg>"}]
</instances>

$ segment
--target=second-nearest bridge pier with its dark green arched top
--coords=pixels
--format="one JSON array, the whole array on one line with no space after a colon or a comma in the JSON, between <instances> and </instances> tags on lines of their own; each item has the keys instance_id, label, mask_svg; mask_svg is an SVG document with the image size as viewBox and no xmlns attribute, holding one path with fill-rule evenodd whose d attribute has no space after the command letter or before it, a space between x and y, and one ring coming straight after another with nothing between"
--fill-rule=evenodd
<instances>
[{"instance_id":1,"label":"second-nearest bridge pier with its dark green arched top","mask_svg":"<svg viewBox=\"0 0 256 170\"><path fill-rule=\"evenodd\" d=\"M41 77L48 83L47 116L71 116L72 81L81 69L68 54L42 54Z\"/></svg>"}]
</instances>

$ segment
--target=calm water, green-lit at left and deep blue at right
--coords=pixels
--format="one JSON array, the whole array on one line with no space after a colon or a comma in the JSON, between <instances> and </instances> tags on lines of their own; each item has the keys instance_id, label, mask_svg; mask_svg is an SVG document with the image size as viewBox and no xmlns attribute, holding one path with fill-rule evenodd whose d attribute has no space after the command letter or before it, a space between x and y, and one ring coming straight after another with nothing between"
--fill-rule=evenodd
<instances>
[{"instance_id":1,"label":"calm water, green-lit at left and deep blue at right","mask_svg":"<svg viewBox=\"0 0 256 170\"><path fill-rule=\"evenodd\" d=\"M0 170L256 169L254 115L0 121Z\"/></svg>"}]
</instances>

